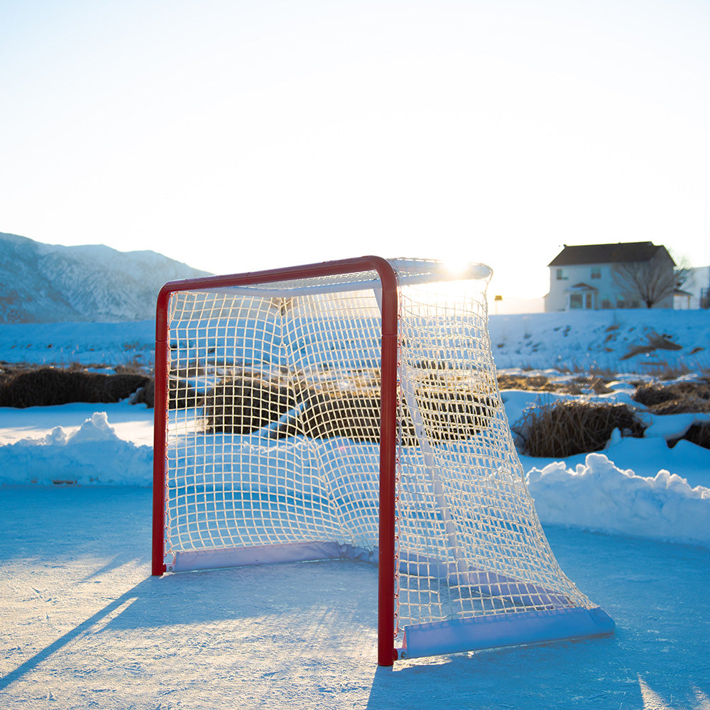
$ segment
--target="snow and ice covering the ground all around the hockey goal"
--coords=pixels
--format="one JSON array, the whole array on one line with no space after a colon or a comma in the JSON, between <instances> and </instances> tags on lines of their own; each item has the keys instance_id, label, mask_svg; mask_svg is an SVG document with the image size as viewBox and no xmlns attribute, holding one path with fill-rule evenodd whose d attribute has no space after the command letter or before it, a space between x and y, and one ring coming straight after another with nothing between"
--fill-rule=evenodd
<instances>
[{"instance_id":1,"label":"snow and ice covering the ground all around the hockey goal","mask_svg":"<svg viewBox=\"0 0 710 710\"><path fill-rule=\"evenodd\" d=\"M492 316L490 332L498 368L619 373L609 400L661 369L710 369L708 312ZM10 325L0 360L149 365L152 346L152 322ZM502 394L511 423L537 399ZM666 444L707 415L647 414L643 439L523 457L552 550L613 637L393 670L376 667L366 564L150 577L152 415L0 409L0 706L710 710L710 452Z\"/></svg>"}]
</instances>

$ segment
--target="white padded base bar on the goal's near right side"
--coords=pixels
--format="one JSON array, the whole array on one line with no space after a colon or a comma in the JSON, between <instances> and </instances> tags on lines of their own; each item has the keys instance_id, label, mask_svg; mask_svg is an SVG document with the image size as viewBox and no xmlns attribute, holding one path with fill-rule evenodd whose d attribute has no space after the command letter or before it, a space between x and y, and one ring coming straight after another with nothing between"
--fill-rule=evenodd
<instances>
[{"instance_id":1,"label":"white padded base bar on the goal's near right side","mask_svg":"<svg viewBox=\"0 0 710 710\"><path fill-rule=\"evenodd\" d=\"M405 627L400 658L419 658L501 646L572 640L613 633L614 622L599 606L493 614Z\"/></svg>"}]
</instances>

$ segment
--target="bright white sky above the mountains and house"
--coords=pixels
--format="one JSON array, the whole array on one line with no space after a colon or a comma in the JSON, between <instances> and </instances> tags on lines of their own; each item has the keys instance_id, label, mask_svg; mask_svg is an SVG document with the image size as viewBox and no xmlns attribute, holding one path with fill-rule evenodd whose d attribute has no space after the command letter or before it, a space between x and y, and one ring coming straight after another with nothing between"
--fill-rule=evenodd
<instances>
[{"instance_id":1,"label":"bright white sky above the mountains and house","mask_svg":"<svg viewBox=\"0 0 710 710\"><path fill-rule=\"evenodd\" d=\"M4 0L0 231L216 273L710 261L707 0Z\"/></svg>"}]
</instances>

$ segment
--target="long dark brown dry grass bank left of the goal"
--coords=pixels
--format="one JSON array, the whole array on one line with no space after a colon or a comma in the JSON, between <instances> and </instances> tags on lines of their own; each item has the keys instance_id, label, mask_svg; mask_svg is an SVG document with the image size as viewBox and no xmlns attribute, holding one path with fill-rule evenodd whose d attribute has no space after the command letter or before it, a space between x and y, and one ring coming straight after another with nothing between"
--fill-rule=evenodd
<instances>
[{"instance_id":1,"label":"long dark brown dry grass bank left of the goal","mask_svg":"<svg viewBox=\"0 0 710 710\"><path fill-rule=\"evenodd\" d=\"M109 375L53 367L6 371L0 382L0 407L119 402L145 386L148 381L150 378L145 375Z\"/></svg>"}]
</instances>

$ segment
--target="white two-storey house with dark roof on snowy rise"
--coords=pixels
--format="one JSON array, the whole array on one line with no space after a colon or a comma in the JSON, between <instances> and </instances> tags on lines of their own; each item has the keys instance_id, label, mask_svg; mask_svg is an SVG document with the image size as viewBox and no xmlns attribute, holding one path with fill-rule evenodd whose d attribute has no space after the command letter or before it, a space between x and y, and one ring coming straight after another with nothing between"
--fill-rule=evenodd
<instances>
[{"instance_id":1,"label":"white two-storey house with dark roof on snowy rise","mask_svg":"<svg viewBox=\"0 0 710 710\"><path fill-rule=\"evenodd\" d=\"M547 266L546 311L673 307L675 263L650 241L565 244Z\"/></svg>"}]
</instances>

